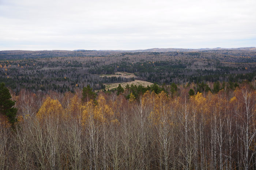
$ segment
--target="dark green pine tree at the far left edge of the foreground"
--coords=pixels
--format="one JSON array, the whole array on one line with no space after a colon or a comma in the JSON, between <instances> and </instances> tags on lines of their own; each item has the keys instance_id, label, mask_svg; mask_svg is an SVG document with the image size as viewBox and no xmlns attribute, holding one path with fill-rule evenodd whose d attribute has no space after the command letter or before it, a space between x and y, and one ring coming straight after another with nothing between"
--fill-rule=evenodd
<instances>
[{"instance_id":1,"label":"dark green pine tree at the far left edge of the foreground","mask_svg":"<svg viewBox=\"0 0 256 170\"><path fill-rule=\"evenodd\" d=\"M11 94L4 83L0 84L0 113L8 117L9 122L13 125L16 119L17 108L13 107L16 101L11 100Z\"/></svg>"}]
</instances>

